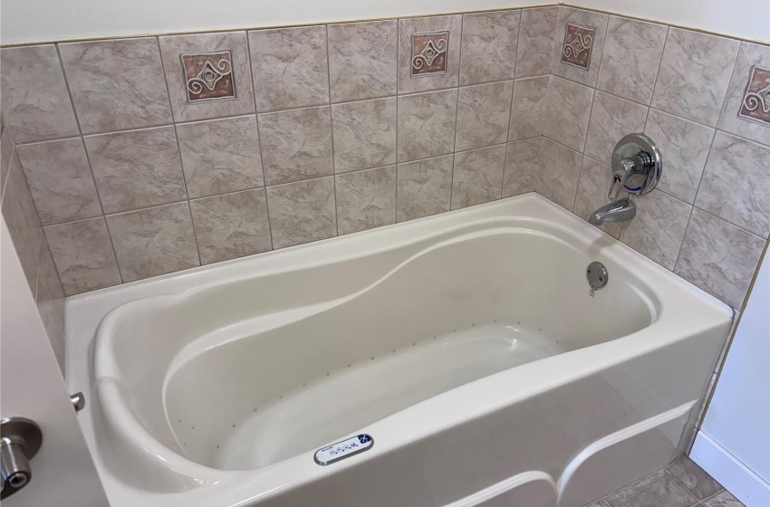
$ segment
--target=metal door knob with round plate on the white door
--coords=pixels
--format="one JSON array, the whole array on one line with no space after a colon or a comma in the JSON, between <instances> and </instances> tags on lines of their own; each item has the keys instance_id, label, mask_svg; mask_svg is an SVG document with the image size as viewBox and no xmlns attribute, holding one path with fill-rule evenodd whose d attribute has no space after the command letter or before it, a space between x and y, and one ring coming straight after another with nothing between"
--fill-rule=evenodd
<instances>
[{"instance_id":1,"label":"metal door knob with round plate on the white door","mask_svg":"<svg viewBox=\"0 0 770 507\"><path fill-rule=\"evenodd\" d=\"M24 417L0 419L0 471L3 483L0 499L22 489L32 479L29 460L40 450L40 426Z\"/></svg>"}]
</instances>

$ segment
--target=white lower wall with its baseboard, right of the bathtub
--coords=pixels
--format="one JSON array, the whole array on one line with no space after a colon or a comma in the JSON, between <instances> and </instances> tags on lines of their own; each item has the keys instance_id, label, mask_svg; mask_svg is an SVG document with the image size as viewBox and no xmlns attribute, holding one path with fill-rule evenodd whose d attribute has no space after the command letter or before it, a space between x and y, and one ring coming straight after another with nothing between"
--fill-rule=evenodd
<instances>
[{"instance_id":1,"label":"white lower wall with its baseboard, right of the bathtub","mask_svg":"<svg viewBox=\"0 0 770 507\"><path fill-rule=\"evenodd\" d=\"M692 457L747 506L770 506L770 255L759 268Z\"/></svg>"}]
</instances>

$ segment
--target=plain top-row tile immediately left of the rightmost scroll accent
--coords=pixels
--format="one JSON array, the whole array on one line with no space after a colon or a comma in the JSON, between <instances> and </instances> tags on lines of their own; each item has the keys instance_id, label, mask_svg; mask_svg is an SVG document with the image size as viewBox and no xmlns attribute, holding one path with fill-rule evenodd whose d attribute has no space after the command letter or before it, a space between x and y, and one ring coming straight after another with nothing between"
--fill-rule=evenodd
<instances>
[{"instance_id":1,"label":"plain top-row tile immediately left of the rightmost scroll accent","mask_svg":"<svg viewBox=\"0 0 770 507\"><path fill-rule=\"evenodd\" d=\"M652 107L716 127L740 43L669 28Z\"/></svg>"}]
</instances>

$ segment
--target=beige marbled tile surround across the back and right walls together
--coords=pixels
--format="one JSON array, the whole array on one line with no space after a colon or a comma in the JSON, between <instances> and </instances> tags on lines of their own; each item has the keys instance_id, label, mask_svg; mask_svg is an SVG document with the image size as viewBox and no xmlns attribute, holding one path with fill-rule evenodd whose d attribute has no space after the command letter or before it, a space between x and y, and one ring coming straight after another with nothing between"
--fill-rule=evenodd
<instances>
[{"instance_id":1,"label":"beige marbled tile surround across the back and right walls together","mask_svg":"<svg viewBox=\"0 0 770 507\"><path fill-rule=\"evenodd\" d=\"M736 307L770 233L753 43L553 6L0 54L67 294L529 191L586 217L632 131L664 177L608 233Z\"/></svg>"}]
</instances>

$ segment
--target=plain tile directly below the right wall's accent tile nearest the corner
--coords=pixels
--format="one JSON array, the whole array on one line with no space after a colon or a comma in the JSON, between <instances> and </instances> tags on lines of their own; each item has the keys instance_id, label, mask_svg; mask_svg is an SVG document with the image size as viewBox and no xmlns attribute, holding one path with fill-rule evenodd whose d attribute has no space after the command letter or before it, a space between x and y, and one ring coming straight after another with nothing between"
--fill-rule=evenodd
<instances>
[{"instance_id":1,"label":"plain tile directly below the right wall's accent tile nearest the corner","mask_svg":"<svg viewBox=\"0 0 770 507\"><path fill-rule=\"evenodd\" d=\"M592 88L551 76L544 135L568 148L582 151L592 101Z\"/></svg>"}]
</instances>

